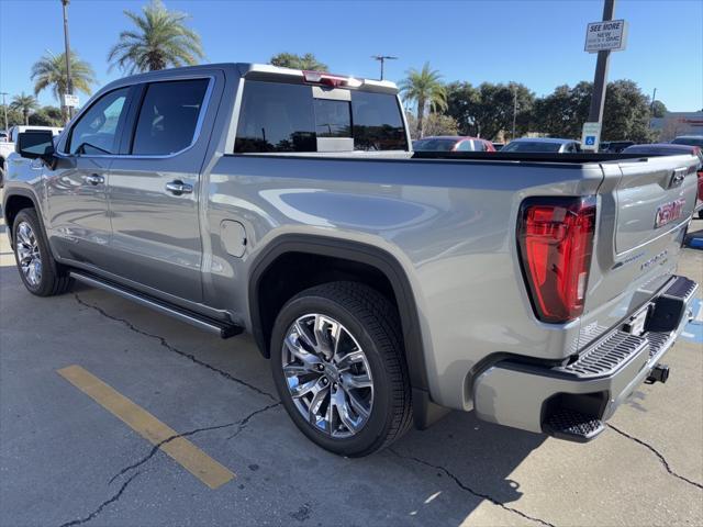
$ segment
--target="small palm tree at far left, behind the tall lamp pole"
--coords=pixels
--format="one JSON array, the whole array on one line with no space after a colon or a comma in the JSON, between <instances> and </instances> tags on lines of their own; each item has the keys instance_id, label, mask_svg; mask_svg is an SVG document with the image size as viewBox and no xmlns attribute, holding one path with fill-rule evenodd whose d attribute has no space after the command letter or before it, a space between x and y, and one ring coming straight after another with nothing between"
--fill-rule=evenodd
<instances>
[{"instance_id":1,"label":"small palm tree at far left, behind the tall lamp pole","mask_svg":"<svg viewBox=\"0 0 703 527\"><path fill-rule=\"evenodd\" d=\"M62 104L62 113L64 121L68 115L66 106L64 106L64 94L68 93L66 81L66 55L60 53L54 55L46 52L32 66L32 80L34 81L34 94L37 96L45 89L52 90L54 98ZM72 92L82 91L90 93L90 85L97 82L96 74L88 63L80 60L75 52L70 54L70 80Z\"/></svg>"}]
</instances>

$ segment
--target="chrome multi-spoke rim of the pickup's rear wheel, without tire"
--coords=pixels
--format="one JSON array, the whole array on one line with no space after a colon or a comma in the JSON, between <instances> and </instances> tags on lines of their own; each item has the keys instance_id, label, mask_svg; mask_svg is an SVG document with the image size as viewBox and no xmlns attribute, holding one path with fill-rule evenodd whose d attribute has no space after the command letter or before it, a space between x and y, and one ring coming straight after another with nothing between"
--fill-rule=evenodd
<instances>
[{"instance_id":1,"label":"chrome multi-spoke rim of the pickup's rear wheel, without tire","mask_svg":"<svg viewBox=\"0 0 703 527\"><path fill-rule=\"evenodd\" d=\"M312 426L334 438L364 428L373 405L373 380L346 327L326 315L303 315L288 328L281 356L293 403Z\"/></svg>"}]
</instances>

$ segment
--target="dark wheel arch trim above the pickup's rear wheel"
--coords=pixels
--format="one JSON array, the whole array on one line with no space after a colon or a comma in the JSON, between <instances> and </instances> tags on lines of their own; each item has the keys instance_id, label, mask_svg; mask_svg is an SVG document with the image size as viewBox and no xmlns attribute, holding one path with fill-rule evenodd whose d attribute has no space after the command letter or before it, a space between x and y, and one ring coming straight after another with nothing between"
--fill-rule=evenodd
<instances>
[{"instance_id":1,"label":"dark wheel arch trim above the pickup's rear wheel","mask_svg":"<svg viewBox=\"0 0 703 527\"><path fill-rule=\"evenodd\" d=\"M257 255L249 271L248 303L252 333L265 357L270 357L269 340L272 322L268 323L266 319L267 316L270 318L270 314L267 315L264 309L264 303L266 302L263 294L264 281L267 278L267 272L276 269L276 262L281 261L280 259L287 257L287 255L311 255L313 257L331 258L335 261L364 266L366 269L373 269L380 273L390 284L394 296L392 300L400 315L411 386L413 391L427 392L427 373L420 317L408 274L398 259L390 253L360 242L317 235L286 234L270 242ZM276 314L274 315L275 317Z\"/></svg>"}]
</instances>

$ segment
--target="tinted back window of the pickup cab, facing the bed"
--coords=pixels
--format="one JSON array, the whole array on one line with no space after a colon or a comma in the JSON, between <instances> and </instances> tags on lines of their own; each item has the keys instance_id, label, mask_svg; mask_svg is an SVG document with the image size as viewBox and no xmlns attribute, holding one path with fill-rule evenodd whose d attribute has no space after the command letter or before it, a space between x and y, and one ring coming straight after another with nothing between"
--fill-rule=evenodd
<instances>
[{"instance_id":1,"label":"tinted back window of the pickup cab, facing the bed","mask_svg":"<svg viewBox=\"0 0 703 527\"><path fill-rule=\"evenodd\" d=\"M349 91L350 100L323 99L309 85L245 81L234 152L406 150L395 96Z\"/></svg>"}]
</instances>

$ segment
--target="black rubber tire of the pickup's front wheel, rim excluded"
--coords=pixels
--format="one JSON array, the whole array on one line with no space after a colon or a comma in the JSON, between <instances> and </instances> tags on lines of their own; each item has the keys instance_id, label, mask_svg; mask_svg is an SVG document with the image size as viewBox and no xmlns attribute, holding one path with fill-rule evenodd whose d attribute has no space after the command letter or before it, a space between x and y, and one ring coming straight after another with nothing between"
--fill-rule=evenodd
<instances>
[{"instance_id":1,"label":"black rubber tire of the pickup's front wheel, rim excluded","mask_svg":"<svg viewBox=\"0 0 703 527\"><path fill-rule=\"evenodd\" d=\"M22 267L20 265L20 256L18 249L18 231L20 228L20 225L22 225L23 223L29 224L32 228L42 262L41 279L36 284L31 283L27 280L27 277L24 276L24 272L22 271ZM18 213L14 222L12 223L12 242L14 248L14 260L18 266L18 271L20 272L20 278L30 293L36 294L37 296L54 296L56 294L66 292L66 290L70 287L72 280L69 277L66 268L64 268L54 259L54 256L48 248L46 235L44 234L44 229L42 228L42 223L40 222L40 218L34 209L22 209Z\"/></svg>"}]
</instances>

